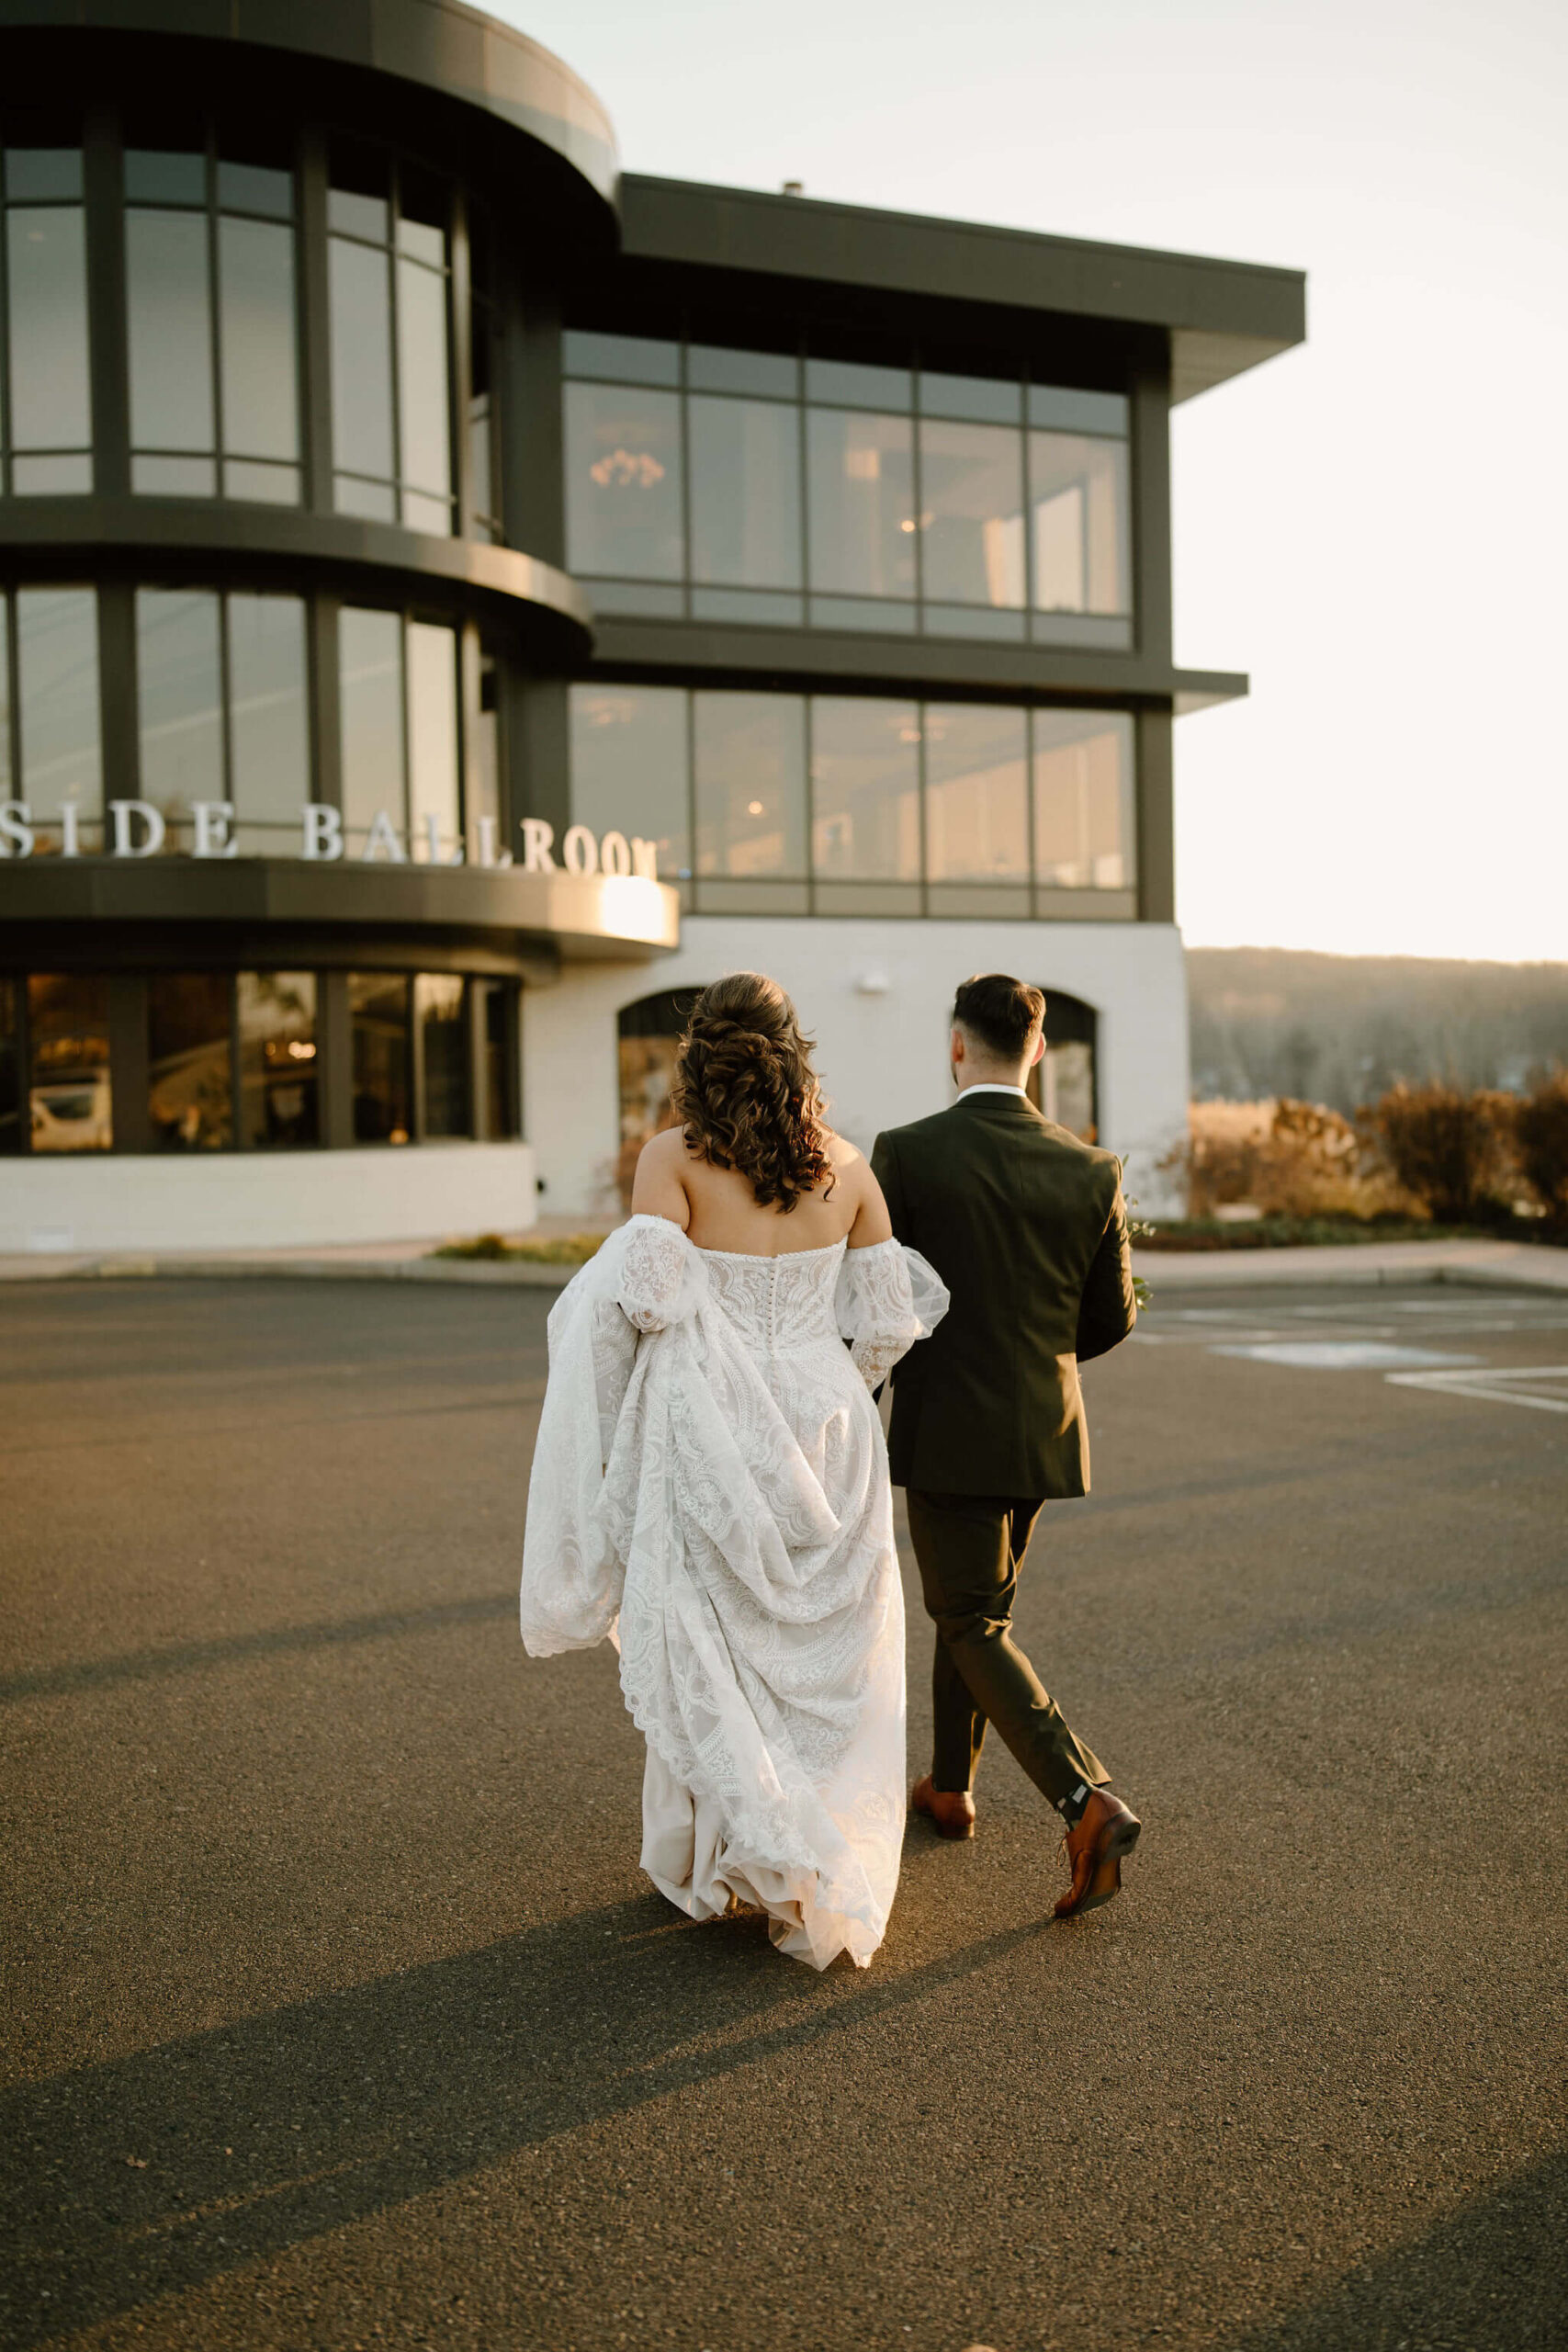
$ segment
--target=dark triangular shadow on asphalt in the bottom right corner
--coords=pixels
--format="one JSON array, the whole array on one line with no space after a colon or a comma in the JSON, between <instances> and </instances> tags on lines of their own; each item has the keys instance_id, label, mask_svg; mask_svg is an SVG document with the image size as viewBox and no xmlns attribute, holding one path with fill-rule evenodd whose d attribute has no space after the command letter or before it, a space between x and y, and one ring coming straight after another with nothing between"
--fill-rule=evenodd
<instances>
[{"instance_id":1,"label":"dark triangular shadow on asphalt in the bottom right corner","mask_svg":"<svg viewBox=\"0 0 1568 2352\"><path fill-rule=\"evenodd\" d=\"M1561 2352L1568 2345L1568 2154L1514 2173L1331 2296L1227 2352Z\"/></svg>"}]
</instances>

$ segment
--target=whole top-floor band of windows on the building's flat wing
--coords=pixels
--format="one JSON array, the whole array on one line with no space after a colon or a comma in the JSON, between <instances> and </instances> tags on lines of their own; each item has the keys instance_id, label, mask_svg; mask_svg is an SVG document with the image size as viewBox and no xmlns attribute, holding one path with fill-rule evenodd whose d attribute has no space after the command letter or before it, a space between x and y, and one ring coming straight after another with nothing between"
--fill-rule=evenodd
<instances>
[{"instance_id":1,"label":"whole top-floor band of windows on the building's flat wing","mask_svg":"<svg viewBox=\"0 0 1568 2352\"><path fill-rule=\"evenodd\" d=\"M1121 393L588 332L564 372L602 612L1131 649Z\"/></svg>"}]
</instances>

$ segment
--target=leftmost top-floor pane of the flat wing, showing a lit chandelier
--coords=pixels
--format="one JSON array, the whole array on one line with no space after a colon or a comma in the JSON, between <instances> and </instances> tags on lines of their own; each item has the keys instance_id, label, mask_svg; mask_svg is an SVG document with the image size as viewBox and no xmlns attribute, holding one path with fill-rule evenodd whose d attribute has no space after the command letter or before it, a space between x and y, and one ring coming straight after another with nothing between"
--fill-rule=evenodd
<instances>
[{"instance_id":1,"label":"leftmost top-floor pane of the flat wing, showing a lit chandelier","mask_svg":"<svg viewBox=\"0 0 1568 2352\"><path fill-rule=\"evenodd\" d=\"M625 579L682 576L675 393L567 386L567 562Z\"/></svg>"}]
</instances>

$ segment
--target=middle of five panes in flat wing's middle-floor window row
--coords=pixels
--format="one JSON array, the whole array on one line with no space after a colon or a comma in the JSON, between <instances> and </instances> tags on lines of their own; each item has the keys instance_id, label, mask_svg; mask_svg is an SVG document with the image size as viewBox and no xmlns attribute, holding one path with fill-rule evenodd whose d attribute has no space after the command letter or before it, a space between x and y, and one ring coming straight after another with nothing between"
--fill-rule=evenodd
<instances>
[{"instance_id":1,"label":"middle of five panes in flat wing's middle-floor window row","mask_svg":"<svg viewBox=\"0 0 1568 2352\"><path fill-rule=\"evenodd\" d=\"M830 882L919 882L914 703L811 703L811 866Z\"/></svg>"}]
</instances>

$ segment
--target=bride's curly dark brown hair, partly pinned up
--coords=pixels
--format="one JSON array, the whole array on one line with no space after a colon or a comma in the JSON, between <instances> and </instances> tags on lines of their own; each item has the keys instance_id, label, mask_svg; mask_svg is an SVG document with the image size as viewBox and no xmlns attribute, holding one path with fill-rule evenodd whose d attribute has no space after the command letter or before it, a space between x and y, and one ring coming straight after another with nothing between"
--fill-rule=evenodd
<instances>
[{"instance_id":1,"label":"bride's curly dark brown hair, partly pinned up","mask_svg":"<svg viewBox=\"0 0 1568 2352\"><path fill-rule=\"evenodd\" d=\"M795 1007L762 971L731 971L691 1007L670 1108L686 1143L717 1169L738 1169L762 1209L785 1216L827 1178L823 1089Z\"/></svg>"}]
</instances>

